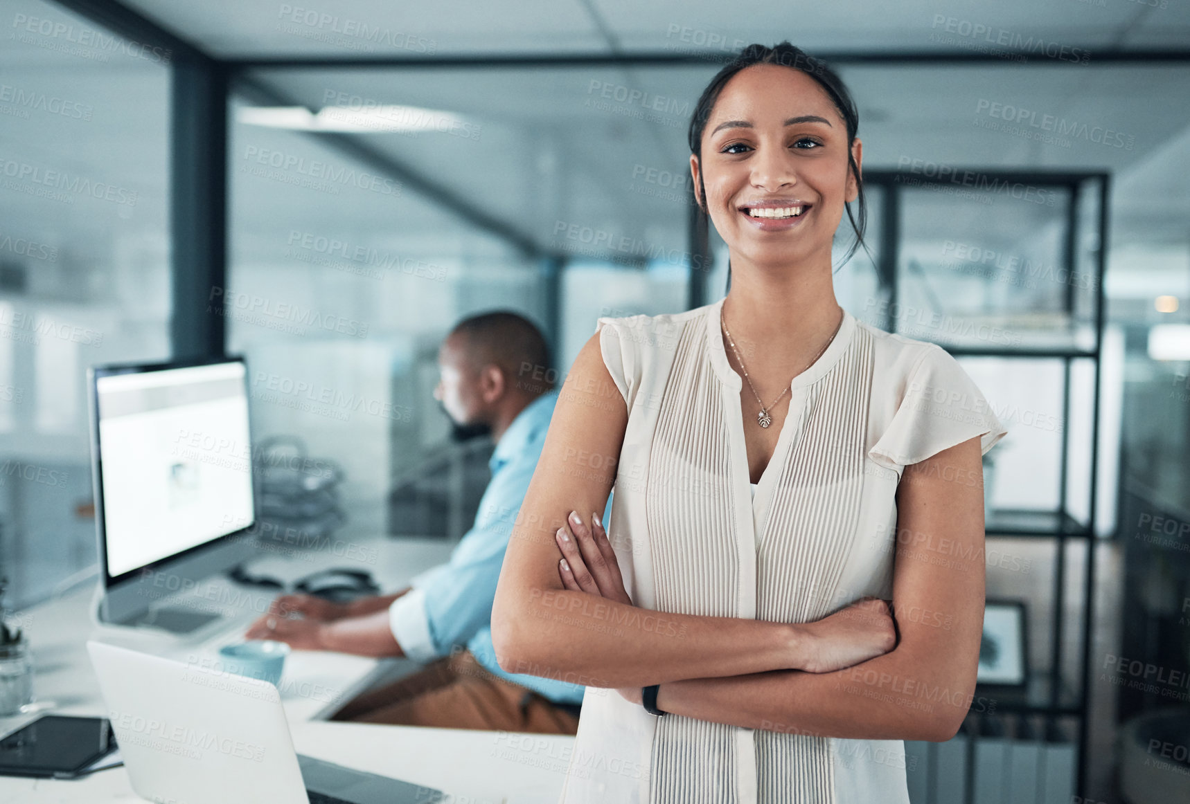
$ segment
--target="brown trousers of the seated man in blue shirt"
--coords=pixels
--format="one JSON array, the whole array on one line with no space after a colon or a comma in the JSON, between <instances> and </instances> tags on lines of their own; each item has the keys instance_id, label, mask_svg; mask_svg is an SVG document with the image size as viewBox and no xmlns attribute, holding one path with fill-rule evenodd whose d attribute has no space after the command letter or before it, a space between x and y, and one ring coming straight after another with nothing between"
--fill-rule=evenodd
<instances>
[{"instance_id":1,"label":"brown trousers of the seated man in blue shirt","mask_svg":"<svg viewBox=\"0 0 1190 804\"><path fill-rule=\"evenodd\" d=\"M576 734L578 718L544 696L489 673L470 651L364 692L332 721L443 729Z\"/></svg>"}]
</instances>

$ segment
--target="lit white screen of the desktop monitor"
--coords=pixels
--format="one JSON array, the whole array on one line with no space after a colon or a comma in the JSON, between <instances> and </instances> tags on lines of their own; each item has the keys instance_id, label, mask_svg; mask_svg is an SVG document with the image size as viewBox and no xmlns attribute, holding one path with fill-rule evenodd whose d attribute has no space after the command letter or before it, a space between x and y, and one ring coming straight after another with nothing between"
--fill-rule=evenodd
<instances>
[{"instance_id":1,"label":"lit white screen of the desktop monitor","mask_svg":"<svg viewBox=\"0 0 1190 804\"><path fill-rule=\"evenodd\" d=\"M111 578L255 522L242 360L98 369L98 478Z\"/></svg>"}]
</instances>

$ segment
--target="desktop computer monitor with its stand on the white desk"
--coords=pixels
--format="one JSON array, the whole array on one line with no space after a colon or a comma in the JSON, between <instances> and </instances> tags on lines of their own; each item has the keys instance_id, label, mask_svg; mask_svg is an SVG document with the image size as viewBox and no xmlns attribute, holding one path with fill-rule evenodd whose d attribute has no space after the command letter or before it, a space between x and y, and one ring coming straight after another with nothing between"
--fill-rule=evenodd
<instances>
[{"instance_id":1,"label":"desktop computer monitor with its stand on the white desk","mask_svg":"<svg viewBox=\"0 0 1190 804\"><path fill-rule=\"evenodd\" d=\"M252 553L244 360L94 366L88 379L100 618L201 628L219 615L165 601Z\"/></svg>"}]
</instances>

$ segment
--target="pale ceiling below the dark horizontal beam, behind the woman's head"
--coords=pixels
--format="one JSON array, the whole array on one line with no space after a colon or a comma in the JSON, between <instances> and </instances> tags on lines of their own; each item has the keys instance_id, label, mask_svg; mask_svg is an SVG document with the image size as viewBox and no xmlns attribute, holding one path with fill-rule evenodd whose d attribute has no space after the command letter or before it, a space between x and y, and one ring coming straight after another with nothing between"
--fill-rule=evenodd
<instances>
[{"instance_id":1,"label":"pale ceiling below the dark horizontal beam, behind the woman's head","mask_svg":"<svg viewBox=\"0 0 1190 804\"><path fill-rule=\"evenodd\" d=\"M641 176L650 170L670 171L685 182L687 120L714 69L320 69L261 70L256 76L312 108L320 108L327 93L344 93L377 103L445 109L476 121L481 126L477 140L444 134L365 134L362 139L472 200L543 246L556 243L553 230L564 221L684 247L684 186L675 194L664 177L647 183ZM1167 65L843 69L860 107L859 134L868 169L922 159L972 168L1083 169L1117 175L1127 175L1188 130L1190 108L1167 100L1183 92L1188 74L1188 68ZM658 113L654 121L645 121L628 117L633 109L626 103L597 107L591 101L599 99L597 88L605 84L639 88L664 99L663 106L674 113ZM1133 138L1132 147L1103 145L1089 136L1071 138L1065 145L1041 144L989 131L975 125L991 119L977 112L981 101L1086 124L1086 131L1095 126L1119 131ZM248 132L252 127L240 128ZM1167 169L1190 168L1185 147L1169 150L1166 159ZM1145 216L1130 221L1144 228L1145 237L1185 235L1184 221L1190 216L1186 194L1169 199L1154 215L1145 182L1129 184L1127 191L1128 196L1117 193L1117 205L1127 211L1130 200L1145 202ZM300 205L292 213L301 215ZM940 226L953 224L939 220ZM1129 231L1136 231L1135 226Z\"/></svg>"}]
</instances>

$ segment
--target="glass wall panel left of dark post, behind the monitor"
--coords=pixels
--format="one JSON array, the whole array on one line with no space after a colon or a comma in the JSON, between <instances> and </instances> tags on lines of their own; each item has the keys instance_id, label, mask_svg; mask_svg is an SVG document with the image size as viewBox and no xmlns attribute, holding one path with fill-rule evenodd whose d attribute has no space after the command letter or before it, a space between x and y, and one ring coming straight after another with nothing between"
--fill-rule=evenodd
<instances>
[{"instance_id":1,"label":"glass wall panel left of dark post, behind the monitor","mask_svg":"<svg viewBox=\"0 0 1190 804\"><path fill-rule=\"evenodd\" d=\"M56 4L2 19L0 577L21 608L95 571L87 366L170 353L170 63Z\"/></svg>"}]
</instances>

